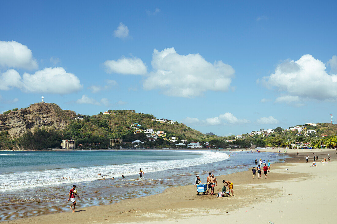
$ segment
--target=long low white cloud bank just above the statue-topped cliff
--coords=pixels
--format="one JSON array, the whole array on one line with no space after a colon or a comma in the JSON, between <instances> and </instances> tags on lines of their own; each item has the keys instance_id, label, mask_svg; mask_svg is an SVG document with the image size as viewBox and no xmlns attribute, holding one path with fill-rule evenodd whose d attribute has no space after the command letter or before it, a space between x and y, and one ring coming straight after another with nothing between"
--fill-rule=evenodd
<instances>
[{"instance_id":1,"label":"long low white cloud bank just above the statue-topped cliff","mask_svg":"<svg viewBox=\"0 0 337 224\"><path fill-rule=\"evenodd\" d=\"M14 70L9 69L0 74L0 89L8 90L12 87L24 92L48 92L51 94L69 94L82 88L80 80L64 68L45 68L34 74L24 73L22 77Z\"/></svg>"}]
</instances>

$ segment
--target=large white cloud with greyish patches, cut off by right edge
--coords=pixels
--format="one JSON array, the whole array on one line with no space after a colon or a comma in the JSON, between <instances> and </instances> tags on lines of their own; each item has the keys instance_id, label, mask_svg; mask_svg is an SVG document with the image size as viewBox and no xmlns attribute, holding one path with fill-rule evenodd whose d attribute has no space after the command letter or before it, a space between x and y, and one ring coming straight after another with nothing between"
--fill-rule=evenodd
<instances>
[{"instance_id":1,"label":"large white cloud with greyish patches, cut off by right edge","mask_svg":"<svg viewBox=\"0 0 337 224\"><path fill-rule=\"evenodd\" d=\"M333 63L330 62L332 68ZM325 64L310 54L303 55L297 61L287 60L279 64L273 74L259 81L288 96L316 100L337 99L337 75L329 75Z\"/></svg>"}]
</instances>

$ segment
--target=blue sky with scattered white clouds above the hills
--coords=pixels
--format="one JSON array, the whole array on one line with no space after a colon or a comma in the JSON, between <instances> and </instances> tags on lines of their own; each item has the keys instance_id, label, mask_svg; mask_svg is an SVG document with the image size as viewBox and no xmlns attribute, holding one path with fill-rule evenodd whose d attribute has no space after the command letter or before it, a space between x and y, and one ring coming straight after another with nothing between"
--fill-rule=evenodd
<instances>
[{"instance_id":1,"label":"blue sky with scattered white clouds above the hills","mask_svg":"<svg viewBox=\"0 0 337 224\"><path fill-rule=\"evenodd\" d=\"M336 112L334 1L1 5L0 112L43 95L76 113L131 109L220 136Z\"/></svg>"}]
</instances>

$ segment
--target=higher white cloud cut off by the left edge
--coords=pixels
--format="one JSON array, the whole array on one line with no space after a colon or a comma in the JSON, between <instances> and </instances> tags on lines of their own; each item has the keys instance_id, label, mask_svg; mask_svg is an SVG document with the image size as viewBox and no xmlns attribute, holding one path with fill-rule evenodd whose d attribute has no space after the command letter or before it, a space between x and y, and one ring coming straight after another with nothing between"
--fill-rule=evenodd
<instances>
[{"instance_id":1,"label":"higher white cloud cut off by the left edge","mask_svg":"<svg viewBox=\"0 0 337 224\"><path fill-rule=\"evenodd\" d=\"M28 70L38 68L32 51L16 41L0 41L0 66Z\"/></svg>"}]
</instances>

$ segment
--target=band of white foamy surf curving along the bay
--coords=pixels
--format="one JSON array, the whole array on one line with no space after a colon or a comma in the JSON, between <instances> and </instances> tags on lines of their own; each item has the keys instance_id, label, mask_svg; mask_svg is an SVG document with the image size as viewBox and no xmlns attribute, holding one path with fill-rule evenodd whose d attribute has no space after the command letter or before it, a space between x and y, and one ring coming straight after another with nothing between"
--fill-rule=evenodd
<instances>
[{"instance_id":1,"label":"band of white foamy surf curving along the bay","mask_svg":"<svg viewBox=\"0 0 337 224\"><path fill-rule=\"evenodd\" d=\"M180 151L181 152L181 151ZM138 174L141 167L146 173L159 172L168 169L177 169L188 166L219 162L228 159L229 156L222 152L210 151L185 151L200 153L197 159L167 160L156 162L129 163L117 165L88 166L71 169L54 169L44 171L30 171L15 174L0 175L0 192L14 189L26 189L38 186L59 185L102 179L98 173L106 178L131 176ZM70 179L61 179L63 176Z\"/></svg>"}]
</instances>

